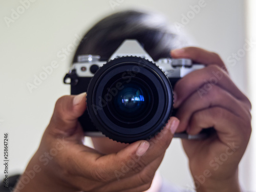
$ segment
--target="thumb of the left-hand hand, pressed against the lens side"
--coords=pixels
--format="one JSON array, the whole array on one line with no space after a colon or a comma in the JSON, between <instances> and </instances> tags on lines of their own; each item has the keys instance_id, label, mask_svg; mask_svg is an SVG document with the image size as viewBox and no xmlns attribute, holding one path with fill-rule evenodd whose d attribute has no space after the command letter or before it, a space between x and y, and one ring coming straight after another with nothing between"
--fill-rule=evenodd
<instances>
[{"instance_id":1,"label":"thumb of the left-hand hand, pressed against the lens side","mask_svg":"<svg viewBox=\"0 0 256 192\"><path fill-rule=\"evenodd\" d=\"M53 133L72 134L77 128L77 119L86 110L86 93L65 95L55 104L54 112L48 126Z\"/></svg>"}]
</instances>

